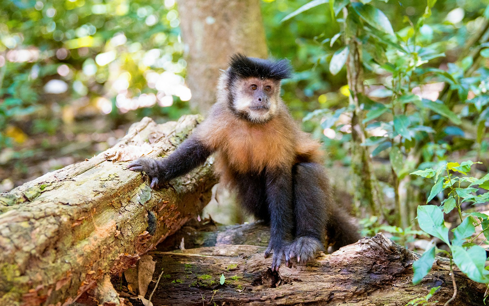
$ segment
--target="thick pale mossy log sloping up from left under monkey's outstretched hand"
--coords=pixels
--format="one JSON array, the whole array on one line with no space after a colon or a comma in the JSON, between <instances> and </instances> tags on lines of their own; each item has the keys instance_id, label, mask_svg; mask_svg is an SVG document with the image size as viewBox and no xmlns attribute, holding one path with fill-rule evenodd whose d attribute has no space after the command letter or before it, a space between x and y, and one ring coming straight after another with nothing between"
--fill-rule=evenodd
<instances>
[{"instance_id":1,"label":"thick pale mossy log sloping up from left under monkey's outstretched hand","mask_svg":"<svg viewBox=\"0 0 489 306\"><path fill-rule=\"evenodd\" d=\"M109 275L175 233L217 182L209 160L152 190L125 162L168 154L200 120L143 118L111 149L0 194L0 305L68 305L90 289L120 305Z\"/></svg>"}]
</instances>

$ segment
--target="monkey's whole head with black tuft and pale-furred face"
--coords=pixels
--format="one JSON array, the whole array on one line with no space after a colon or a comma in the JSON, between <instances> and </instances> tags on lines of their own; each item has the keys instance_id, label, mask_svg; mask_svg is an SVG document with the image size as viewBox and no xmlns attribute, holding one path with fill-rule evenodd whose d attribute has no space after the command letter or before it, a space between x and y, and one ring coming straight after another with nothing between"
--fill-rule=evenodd
<instances>
[{"instance_id":1,"label":"monkey's whole head with black tuft and pale-furred face","mask_svg":"<svg viewBox=\"0 0 489 306\"><path fill-rule=\"evenodd\" d=\"M235 54L222 84L232 112L253 123L265 123L277 112L280 81L292 75L288 60L264 60Z\"/></svg>"}]
</instances>

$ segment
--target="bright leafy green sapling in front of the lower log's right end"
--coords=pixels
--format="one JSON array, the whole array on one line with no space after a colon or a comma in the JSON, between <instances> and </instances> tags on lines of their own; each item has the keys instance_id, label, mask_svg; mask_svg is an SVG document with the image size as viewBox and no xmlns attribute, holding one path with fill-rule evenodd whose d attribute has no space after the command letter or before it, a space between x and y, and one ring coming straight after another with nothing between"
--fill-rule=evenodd
<instances>
[{"instance_id":1,"label":"bright leafy green sapling in front of the lower log's right end","mask_svg":"<svg viewBox=\"0 0 489 306\"><path fill-rule=\"evenodd\" d=\"M474 164L471 161L459 163L446 163L438 169L427 168L411 174L429 178L434 182L426 203L437 194L446 190L447 197L441 206L423 205L418 207L418 223L427 234L439 238L449 248L449 251L439 250L435 246L426 250L422 257L413 263L413 283L422 281L423 277L431 270L437 253L444 253L450 259L450 272L454 287L455 277L452 272L452 264L475 282L489 283L489 271L486 269L486 250L473 243L474 239L484 234L489 237L489 216L481 212L462 212L462 203L472 204L486 203L489 198L489 174L477 179L467 175ZM445 175L444 175L445 174ZM457 175L456 175L457 174ZM478 188L474 188L478 186ZM481 192L485 189L485 192ZM445 226L444 212L449 213L456 209L461 223L452 230L453 238L449 239L448 228ZM477 226L482 227L481 233L471 237Z\"/></svg>"}]
</instances>

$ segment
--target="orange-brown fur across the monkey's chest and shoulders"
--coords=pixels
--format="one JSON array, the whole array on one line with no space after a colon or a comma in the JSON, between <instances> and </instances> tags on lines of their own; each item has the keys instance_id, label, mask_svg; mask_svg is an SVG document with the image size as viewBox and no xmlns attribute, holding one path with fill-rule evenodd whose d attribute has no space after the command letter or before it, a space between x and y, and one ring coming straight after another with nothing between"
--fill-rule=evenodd
<instances>
[{"instance_id":1,"label":"orange-brown fur across the monkey's chest and shoulders","mask_svg":"<svg viewBox=\"0 0 489 306\"><path fill-rule=\"evenodd\" d=\"M300 132L287 113L264 124L253 124L227 111L213 114L200 126L199 137L216 151L215 169L224 183L233 173L292 167L297 162L320 162L319 143Z\"/></svg>"}]
</instances>

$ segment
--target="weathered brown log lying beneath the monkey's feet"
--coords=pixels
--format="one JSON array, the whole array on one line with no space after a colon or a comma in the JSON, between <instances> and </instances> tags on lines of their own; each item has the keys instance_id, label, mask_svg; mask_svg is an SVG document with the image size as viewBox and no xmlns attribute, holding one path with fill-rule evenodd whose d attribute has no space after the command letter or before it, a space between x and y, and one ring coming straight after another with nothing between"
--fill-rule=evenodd
<instances>
[{"instance_id":1,"label":"weathered brown log lying beneath the monkey's feet","mask_svg":"<svg viewBox=\"0 0 489 306\"><path fill-rule=\"evenodd\" d=\"M219 246L148 253L156 261L153 280L163 270L153 305L404 306L435 286L441 287L429 301L443 305L453 294L448 259L437 257L422 283L412 285L412 262L420 255L382 234L363 238L331 255L321 254L307 266L282 267L277 274L269 268L271 259L263 258L265 247L233 245L232 237L248 240L262 236L261 232L267 235L267 228L257 228L254 233L249 225L221 229L216 240ZM266 241L258 244L262 243ZM485 285L469 280L458 269L455 276L459 291L450 305L483 305ZM148 292L154 284L151 282Z\"/></svg>"}]
</instances>

